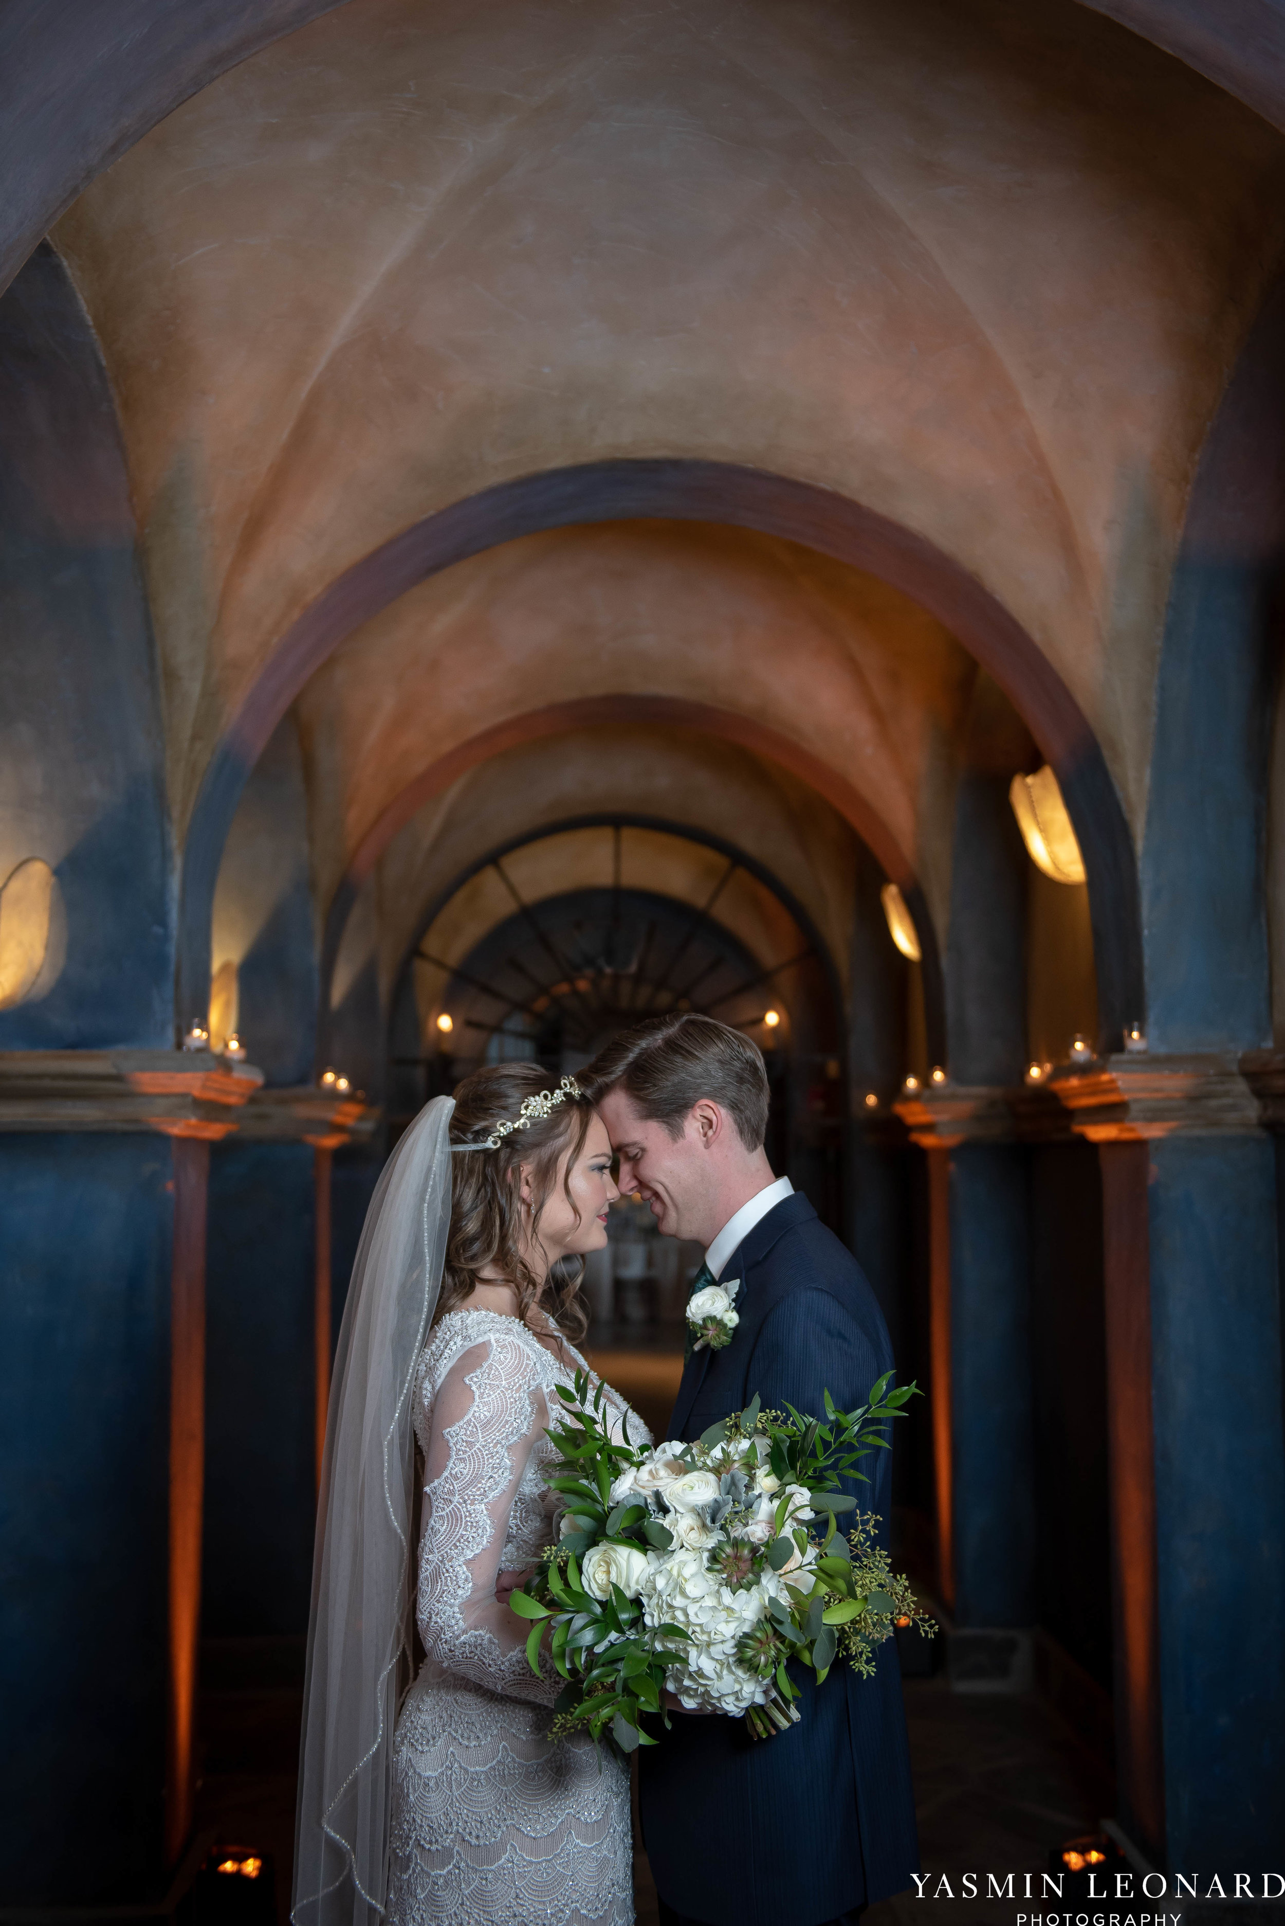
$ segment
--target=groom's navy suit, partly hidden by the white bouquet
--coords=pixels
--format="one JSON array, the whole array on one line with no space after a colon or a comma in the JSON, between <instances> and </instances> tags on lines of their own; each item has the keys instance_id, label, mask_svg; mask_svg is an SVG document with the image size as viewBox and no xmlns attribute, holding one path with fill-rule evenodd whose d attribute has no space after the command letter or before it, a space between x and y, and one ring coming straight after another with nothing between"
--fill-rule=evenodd
<instances>
[{"instance_id":1,"label":"groom's navy suit, partly hidden by the white bouquet","mask_svg":"<svg viewBox=\"0 0 1285 1926\"><path fill-rule=\"evenodd\" d=\"M852 1410L893 1369L862 1267L804 1196L762 1217L723 1267L741 1277L741 1323L723 1350L694 1352L669 1437L696 1439L754 1392L781 1410ZM889 1520L893 1454L862 1460L862 1512ZM920 1868L906 1718L893 1641L875 1678L837 1666L816 1691L796 1666L800 1724L750 1739L741 1720L677 1714L639 1755L646 1855L662 1899L712 1926L819 1926L910 1886Z\"/></svg>"}]
</instances>

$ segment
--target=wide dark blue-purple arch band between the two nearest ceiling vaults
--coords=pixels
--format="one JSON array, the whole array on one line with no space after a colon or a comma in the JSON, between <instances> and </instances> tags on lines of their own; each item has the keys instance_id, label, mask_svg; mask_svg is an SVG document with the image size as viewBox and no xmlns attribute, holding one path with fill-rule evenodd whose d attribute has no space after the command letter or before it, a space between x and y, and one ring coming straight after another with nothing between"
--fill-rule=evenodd
<instances>
[{"instance_id":1,"label":"wide dark blue-purple arch band between the two nearest ceiling vaults","mask_svg":"<svg viewBox=\"0 0 1285 1926\"><path fill-rule=\"evenodd\" d=\"M340 641L427 576L485 549L552 528L652 518L731 524L812 547L879 576L952 630L1058 772L1089 869L1102 1042L1114 1048L1125 1027L1143 1023L1133 840L1102 749L1033 638L975 576L862 503L787 476L702 460L587 462L483 489L383 543L298 616L219 742L196 799L179 911L181 1013L204 1007L208 905L246 774ZM837 772L827 780L843 784Z\"/></svg>"}]
</instances>

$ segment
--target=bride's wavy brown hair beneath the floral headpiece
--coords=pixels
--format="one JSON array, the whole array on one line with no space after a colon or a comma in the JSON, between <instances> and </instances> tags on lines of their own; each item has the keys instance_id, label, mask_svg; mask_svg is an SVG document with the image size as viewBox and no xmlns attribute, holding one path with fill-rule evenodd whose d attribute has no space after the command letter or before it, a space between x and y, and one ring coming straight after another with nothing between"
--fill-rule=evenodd
<instances>
[{"instance_id":1,"label":"bride's wavy brown hair beneath the floral headpiece","mask_svg":"<svg viewBox=\"0 0 1285 1926\"><path fill-rule=\"evenodd\" d=\"M529 1096L552 1094L558 1079L539 1063L489 1063L456 1086L456 1109L450 1119L450 1142L485 1142L496 1123L517 1123ZM519 1167L531 1169L531 1242L539 1244L541 1215L558 1177L558 1163L567 1156L564 1190L575 1210L569 1175L585 1148L592 1104L589 1098L567 1096L537 1117L523 1131L500 1138L498 1150L462 1152L450 1159L450 1233L446 1265L433 1321L456 1312L471 1294L477 1273L494 1269L517 1292L517 1315L523 1323L541 1298L541 1279L521 1256L523 1210ZM569 1339L579 1339L589 1327L589 1315L579 1294L583 1263L564 1258L548 1271L544 1310Z\"/></svg>"}]
</instances>

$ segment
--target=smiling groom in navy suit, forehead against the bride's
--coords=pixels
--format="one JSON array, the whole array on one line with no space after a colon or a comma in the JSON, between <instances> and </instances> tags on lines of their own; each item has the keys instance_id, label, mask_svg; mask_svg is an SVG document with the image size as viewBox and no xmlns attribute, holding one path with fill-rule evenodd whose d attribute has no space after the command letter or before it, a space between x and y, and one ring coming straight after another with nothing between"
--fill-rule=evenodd
<instances>
[{"instance_id":1,"label":"smiling groom in navy suit, forehead against the bride's","mask_svg":"<svg viewBox=\"0 0 1285 1926\"><path fill-rule=\"evenodd\" d=\"M744 1410L852 1410L893 1369L889 1333L856 1260L764 1154L768 1075L739 1030L694 1013L650 1017L579 1073L666 1236L696 1238L693 1290L741 1281L741 1323L723 1350L691 1352L669 1421L675 1439ZM883 1520L891 1452L848 1489ZM646 1857L662 1926L854 1926L918 1870L900 1670L879 1647L875 1678L843 1664L802 1689L800 1724L750 1739L741 1720L677 1714L639 1755Z\"/></svg>"}]
</instances>

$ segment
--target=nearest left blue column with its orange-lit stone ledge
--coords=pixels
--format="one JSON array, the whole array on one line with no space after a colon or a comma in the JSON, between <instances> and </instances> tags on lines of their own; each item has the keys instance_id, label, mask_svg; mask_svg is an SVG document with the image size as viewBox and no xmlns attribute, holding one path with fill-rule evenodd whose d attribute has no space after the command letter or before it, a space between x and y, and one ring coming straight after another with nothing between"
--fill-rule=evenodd
<instances>
[{"instance_id":1,"label":"nearest left blue column with its orange-lit stone ledge","mask_svg":"<svg viewBox=\"0 0 1285 1926\"><path fill-rule=\"evenodd\" d=\"M258 1073L0 1054L13 1901L160 1897L194 1803L210 1142ZM75 1814L75 1853L67 1814Z\"/></svg>"}]
</instances>

